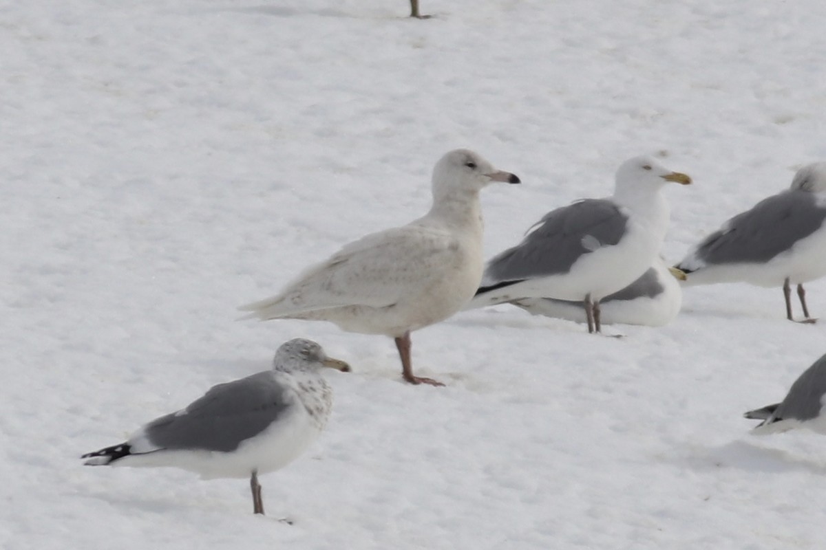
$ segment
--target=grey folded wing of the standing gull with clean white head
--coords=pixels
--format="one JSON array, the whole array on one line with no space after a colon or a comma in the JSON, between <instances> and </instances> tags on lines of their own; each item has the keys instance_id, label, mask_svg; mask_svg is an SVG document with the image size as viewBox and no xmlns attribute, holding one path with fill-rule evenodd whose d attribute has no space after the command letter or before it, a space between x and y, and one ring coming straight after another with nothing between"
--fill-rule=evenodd
<instances>
[{"instance_id":1,"label":"grey folded wing of the standing gull with clean white head","mask_svg":"<svg viewBox=\"0 0 826 550\"><path fill-rule=\"evenodd\" d=\"M491 259L486 282L567 273L593 251L583 246L584 237L601 246L615 245L625 233L628 216L610 200L586 199L548 212L539 223L520 244Z\"/></svg>"}]
</instances>

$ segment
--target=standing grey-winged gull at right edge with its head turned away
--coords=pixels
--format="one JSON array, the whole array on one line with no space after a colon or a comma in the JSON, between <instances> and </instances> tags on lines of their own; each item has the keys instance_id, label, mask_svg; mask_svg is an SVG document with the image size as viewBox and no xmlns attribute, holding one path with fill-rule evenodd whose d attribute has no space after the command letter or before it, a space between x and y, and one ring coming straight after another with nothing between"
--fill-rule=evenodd
<instances>
[{"instance_id":1,"label":"standing grey-winged gull at right edge with its head turned away","mask_svg":"<svg viewBox=\"0 0 826 550\"><path fill-rule=\"evenodd\" d=\"M786 318L791 284L811 323L804 283L826 275L826 162L800 168L788 190L771 195L729 219L694 247L676 268L686 285L747 282L781 286Z\"/></svg>"}]
</instances>

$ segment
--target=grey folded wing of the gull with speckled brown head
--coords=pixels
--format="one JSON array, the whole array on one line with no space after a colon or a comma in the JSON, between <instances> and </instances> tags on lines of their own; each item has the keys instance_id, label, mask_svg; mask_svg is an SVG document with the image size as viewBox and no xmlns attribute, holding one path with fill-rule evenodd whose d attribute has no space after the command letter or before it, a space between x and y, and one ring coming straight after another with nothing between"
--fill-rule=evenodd
<instances>
[{"instance_id":1,"label":"grey folded wing of the gull with speckled brown head","mask_svg":"<svg viewBox=\"0 0 826 550\"><path fill-rule=\"evenodd\" d=\"M184 411L151 421L145 433L162 449L229 452L272 424L291 400L287 388L266 371L219 384Z\"/></svg>"}]
</instances>

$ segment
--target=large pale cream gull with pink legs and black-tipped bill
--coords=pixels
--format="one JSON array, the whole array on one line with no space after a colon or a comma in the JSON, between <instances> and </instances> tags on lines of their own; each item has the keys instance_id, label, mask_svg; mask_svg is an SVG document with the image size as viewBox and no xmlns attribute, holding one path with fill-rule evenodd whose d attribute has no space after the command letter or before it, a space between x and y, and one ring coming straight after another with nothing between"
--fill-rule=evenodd
<instances>
[{"instance_id":1,"label":"large pale cream gull with pink legs and black-tipped bill","mask_svg":"<svg viewBox=\"0 0 826 550\"><path fill-rule=\"evenodd\" d=\"M447 153L434 167L433 206L425 216L349 243L281 294L240 309L262 321L329 321L345 331L391 336L407 382L442 385L413 375L410 335L456 313L477 289L479 191L491 181L520 179L467 149Z\"/></svg>"}]
</instances>

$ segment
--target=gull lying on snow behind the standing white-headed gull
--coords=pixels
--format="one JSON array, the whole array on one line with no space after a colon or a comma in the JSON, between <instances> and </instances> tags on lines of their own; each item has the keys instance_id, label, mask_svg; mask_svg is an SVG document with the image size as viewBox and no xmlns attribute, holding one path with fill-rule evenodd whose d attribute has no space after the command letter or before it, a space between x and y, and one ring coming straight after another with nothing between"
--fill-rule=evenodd
<instances>
[{"instance_id":1,"label":"gull lying on snow behind the standing white-headed gull","mask_svg":"<svg viewBox=\"0 0 826 550\"><path fill-rule=\"evenodd\" d=\"M637 280L614 294L600 300L601 320L605 324L624 323L662 327L680 312L682 290L677 282L680 272L672 272L657 256L653 266ZM586 322L582 302L553 298L524 298L515 300L515 306L533 315L558 317L568 321Z\"/></svg>"}]
</instances>

